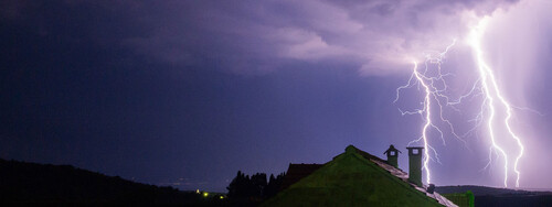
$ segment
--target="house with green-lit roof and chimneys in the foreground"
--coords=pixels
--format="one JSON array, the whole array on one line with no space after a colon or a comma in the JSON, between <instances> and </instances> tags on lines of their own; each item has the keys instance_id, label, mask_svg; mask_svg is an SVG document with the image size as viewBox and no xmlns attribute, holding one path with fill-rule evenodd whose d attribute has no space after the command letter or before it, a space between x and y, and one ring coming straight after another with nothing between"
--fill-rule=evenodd
<instances>
[{"instance_id":1,"label":"house with green-lit roof and chimneys in the foreground","mask_svg":"<svg viewBox=\"0 0 552 207\"><path fill-rule=\"evenodd\" d=\"M423 148L407 148L410 175L399 150L382 160L353 145L326 164L289 164L283 189L262 206L456 206L422 184Z\"/></svg>"}]
</instances>

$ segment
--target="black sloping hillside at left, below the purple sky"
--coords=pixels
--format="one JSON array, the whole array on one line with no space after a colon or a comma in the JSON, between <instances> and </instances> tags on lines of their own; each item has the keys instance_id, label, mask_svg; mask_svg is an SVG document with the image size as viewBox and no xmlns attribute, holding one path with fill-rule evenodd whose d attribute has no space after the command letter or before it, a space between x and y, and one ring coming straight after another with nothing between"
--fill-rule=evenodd
<instances>
[{"instance_id":1,"label":"black sloping hillside at left, below the purple sky","mask_svg":"<svg viewBox=\"0 0 552 207\"><path fill-rule=\"evenodd\" d=\"M213 194L135 183L71 165L0 159L0 206L219 206L223 201Z\"/></svg>"}]
</instances>

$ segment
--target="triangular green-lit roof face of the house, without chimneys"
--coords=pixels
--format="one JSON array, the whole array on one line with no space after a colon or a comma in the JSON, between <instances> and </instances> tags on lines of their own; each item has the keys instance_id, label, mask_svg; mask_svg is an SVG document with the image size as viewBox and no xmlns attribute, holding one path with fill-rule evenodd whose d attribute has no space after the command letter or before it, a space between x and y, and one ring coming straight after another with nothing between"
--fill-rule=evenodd
<instances>
[{"instance_id":1,"label":"triangular green-lit roof face of the house, without chimneys","mask_svg":"<svg viewBox=\"0 0 552 207\"><path fill-rule=\"evenodd\" d=\"M350 148L262 206L442 206Z\"/></svg>"}]
</instances>

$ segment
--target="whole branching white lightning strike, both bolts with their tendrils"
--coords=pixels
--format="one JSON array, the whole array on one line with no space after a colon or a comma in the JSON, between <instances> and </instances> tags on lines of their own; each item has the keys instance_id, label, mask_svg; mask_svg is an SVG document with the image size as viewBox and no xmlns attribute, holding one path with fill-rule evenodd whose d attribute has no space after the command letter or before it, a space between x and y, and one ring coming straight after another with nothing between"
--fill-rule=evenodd
<instances>
[{"instance_id":1,"label":"whole branching white lightning strike, both bolts with their tendrils","mask_svg":"<svg viewBox=\"0 0 552 207\"><path fill-rule=\"evenodd\" d=\"M518 164L520 159L523 156L523 151L524 146L521 143L521 138L517 135L512 128L511 128L511 118L512 118L512 106L507 101L507 99L502 96L502 92L500 91L500 88L498 86L498 81L495 78L492 68L488 66L488 64L484 59L484 52L481 48L480 40L482 37L482 33L485 31L487 23L487 19L482 19L477 26L475 26L470 35L468 37L468 43L470 47L474 51L475 54L475 61L477 64L477 72L478 72L478 79L474 83L474 86L471 89L457 98L456 100L447 96L447 89L448 84L446 83L445 77L446 76L454 76L454 74L444 74L442 70L442 64L445 59L445 56L447 52L456 44L456 41L453 42L453 44L448 45L444 52L440 53L428 53L425 56L425 69L418 69L418 63L416 61L413 61L414 68L413 73L404 86L400 86L396 89L396 98L393 102L396 102L400 99L400 92L403 89L412 88L414 86L417 86L418 90L424 94L424 99L423 99L423 107L420 109L415 110L406 110L401 111L401 115L421 115L423 120L425 121L424 127L422 128L422 135L413 140L408 143L411 145L412 143L416 142L423 142L425 150L425 157L423 161L423 168L426 172L426 183L431 183L431 171L429 171L429 160L435 161L437 163L440 163L439 156L435 148L433 148L429 144L429 137L428 137L428 131L434 129L440 134L440 141L443 145L446 145L445 139L444 139L444 130L437 126L436 122L444 123L448 126L449 132L459 141L461 141L465 146L467 148L466 141L463 139L469 134L471 134L477 128L481 126L486 126L488 133L489 133L489 139L490 139L490 146L489 146L489 163L487 166L490 165L492 162L492 152L496 152L497 154L501 155L505 159L503 163L503 171L505 171L505 179L503 179L503 185L505 187L508 187L508 157L509 154L505 150L502 145L499 143L499 138L496 135L496 131L498 131L495 126L497 123L503 124L506 128L506 132L511 137L514 142L517 143L517 146L519 148L519 153L516 155L514 163L513 163L513 172L516 173L516 187L519 187L519 179L521 176L521 172L519 171ZM432 67L436 66L436 67ZM435 68L435 69L434 69ZM465 134L459 135L457 134L455 128L453 127L453 123L444 117L444 110L447 109L447 107L459 111L459 109L456 108L457 105L460 105L461 101L465 98L473 98L476 96L481 96L482 101L481 101L481 108L480 112L477 113L477 116L474 118L476 123L471 129L469 129ZM432 108L433 107L433 108ZM500 108L501 107L501 108ZM503 111L500 109L503 108ZM488 111L488 115L486 117L485 111ZM436 115L432 113L435 112ZM497 120L497 113L498 112L503 112L506 115L506 118L503 121L499 122ZM438 119L433 119L434 117L438 117ZM486 124L484 124L486 122ZM500 140L501 141L501 140ZM467 148L469 150L469 148ZM429 151L432 153L429 153ZM486 166L486 167L487 167Z\"/></svg>"}]
</instances>

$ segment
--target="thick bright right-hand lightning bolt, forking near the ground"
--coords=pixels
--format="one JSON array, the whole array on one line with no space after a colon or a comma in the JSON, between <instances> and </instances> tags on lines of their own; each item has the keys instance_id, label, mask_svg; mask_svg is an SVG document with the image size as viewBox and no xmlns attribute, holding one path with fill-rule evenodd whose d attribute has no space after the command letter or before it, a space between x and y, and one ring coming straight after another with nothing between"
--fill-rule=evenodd
<instances>
[{"instance_id":1,"label":"thick bright right-hand lightning bolt, forking near the ground","mask_svg":"<svg viewBox=\"0 0 552 207\"><path fill-rule=\"evenodd\" d=\"M508 187L508 154L506 151L497 143L496 137L495 137L495 129L493 129L493 123L495 123L495 113L497 111L496 108L498 108L497 105L502 105L505 108L505 113L506 118L503 120L503 124L508 131L508 134L516 141L519 148L519 153L516 156L516 162L513 163L513 171L516 172L516 187L519 187L519 179L521 176L521 172L518 168L518 164L520 159L523 156L523 151L524 146L521 143L520 137L518 137L511 126L510 126L510 120L512 117L512 106L506 100L506 98L502 96L502 92L500 91L500 88L498 87L497 79L495 78L495 75L492 73L492 69L487 65L487 63L484 59L484 52L481 48L480 40L482 37L482 33L485 32L487 25L487 19L484 19L479 22L477 26L475 26L471 30L470 37L469 37L469 43L471 45L471 48L475 52L476 56L476 62L478 65L478 72L479 72L479 77L481 80L481 87L485 92L485 103L484 106L487 106L489 109L489 117L487 120L487 128L489 131L489 138L491 140L491 151L492 149L498 151L500 154L502 154L505 159L505 187ZM495 102L495 98L498 99L498 102ZM491 162L491 156L492 154L489 154L489 163Z\"/></svg>"}]
</instances>

